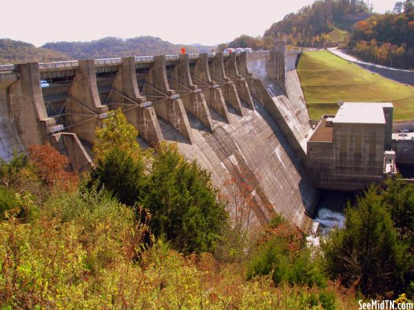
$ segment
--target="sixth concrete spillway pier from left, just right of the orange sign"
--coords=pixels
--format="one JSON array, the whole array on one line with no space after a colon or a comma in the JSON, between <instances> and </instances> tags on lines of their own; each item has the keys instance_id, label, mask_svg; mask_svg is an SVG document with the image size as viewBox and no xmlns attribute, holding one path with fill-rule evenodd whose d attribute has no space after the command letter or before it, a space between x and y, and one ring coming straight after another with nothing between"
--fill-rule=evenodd
<instances>
[{"instance_id":1,"label":"sixth concrete spillway pier from left, just right of the orange sign","mask_svg":"<svg viewBox=\"0 0 414 310\"><path fill-rule=\"evenodd\" d=\"M202 87L207 105L224 118L227 123L230 123L230 116L228 116L223 92L221 92L219 85L212 81L210 76L207 53L199 54L199 59L195 62L191 76L195 78L197 83L201 84L199 86Z\"/></svg>"}]
</instances>

